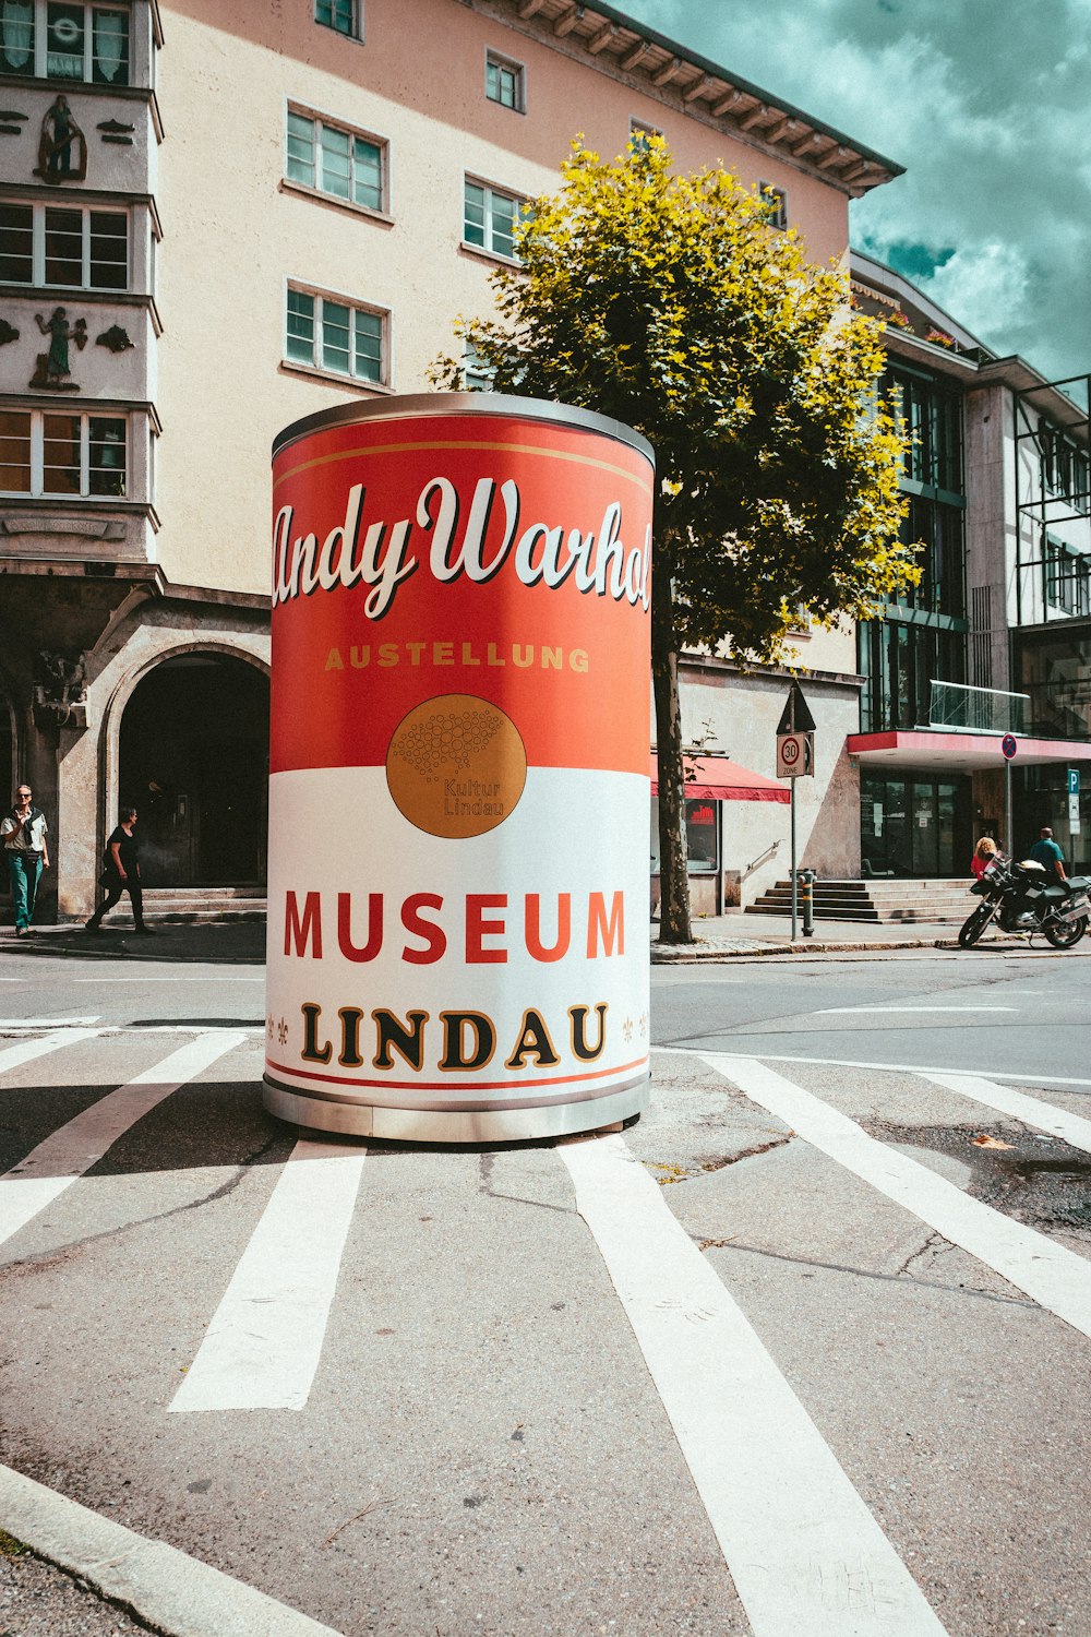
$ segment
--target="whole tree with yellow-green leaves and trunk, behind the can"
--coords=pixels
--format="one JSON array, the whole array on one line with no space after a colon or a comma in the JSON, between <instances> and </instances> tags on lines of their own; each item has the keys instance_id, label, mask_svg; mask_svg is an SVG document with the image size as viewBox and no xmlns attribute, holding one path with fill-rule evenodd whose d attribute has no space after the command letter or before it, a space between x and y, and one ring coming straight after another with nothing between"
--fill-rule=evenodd
<instances>
[{"instance_id":1,"label":"whole tree with yellow-green leaves and trunk, behind the can","mask_svg":"<svg viewBox=\"0 0 1091 1637\"><path fill-rule=\"evenodd\" d=\"M492 273L499 318L456 324L478 368L656 450L659 938L687 943L679 650L772 663L801 611L869 619L918 578L880 326L851 313L842 272L770 228L761 195L725 170L674 175L661 138L613 162L576 141L517 244L520 267ZM443 359L433 381L460 388L463 370Z\"/></svg>"}]
</instances>

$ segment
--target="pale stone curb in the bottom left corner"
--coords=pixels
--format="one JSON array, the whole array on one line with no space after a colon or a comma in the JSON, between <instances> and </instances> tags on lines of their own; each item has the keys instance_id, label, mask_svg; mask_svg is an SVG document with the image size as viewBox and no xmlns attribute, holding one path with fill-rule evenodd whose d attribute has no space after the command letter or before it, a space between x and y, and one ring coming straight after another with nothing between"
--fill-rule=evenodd
<instances>
[{"instance_id":1,"label":"pale stone curb in the bottom left corner","mask_svg":"<svg viewBox=\"0 0 1091 1637\"><path fill-rule=\"evenodd\" d=\"M0 1467L0 1522L164 1637L342 1637L263 1591Z\"/></svg>"}]
</instances>

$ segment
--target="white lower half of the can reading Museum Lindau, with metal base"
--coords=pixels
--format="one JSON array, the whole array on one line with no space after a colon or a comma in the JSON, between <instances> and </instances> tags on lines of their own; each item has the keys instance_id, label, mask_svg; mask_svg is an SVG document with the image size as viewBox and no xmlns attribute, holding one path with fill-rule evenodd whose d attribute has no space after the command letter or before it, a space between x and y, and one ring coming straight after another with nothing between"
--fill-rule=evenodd
<instances>
[{"instance_id":1,"label":"white lower half of the can reading Museum Lindau, with metal base","mask_svg":"<svg viewBox=\"0 0 1091 1637\"><path fill-rule=\"evenodd\" d=\"M273 774L267 1108L433 1143L640 1113L648 796L640 774L530 768L497 828L445 840L383 768Z\"/></svg>"}]
</instances>

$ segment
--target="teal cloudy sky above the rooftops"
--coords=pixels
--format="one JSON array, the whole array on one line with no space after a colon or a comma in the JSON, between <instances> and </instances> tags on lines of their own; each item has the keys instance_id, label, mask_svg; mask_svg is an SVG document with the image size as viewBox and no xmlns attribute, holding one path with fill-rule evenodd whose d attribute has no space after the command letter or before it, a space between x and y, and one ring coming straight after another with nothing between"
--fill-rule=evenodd
<instances>
[{"instance_id":1,"label":"teal cloudy sky above the rooftops","mask_svg":"<svg viewBox=\"0 0 1091 1637\"><path fill-rule=\"evenodd\" d=\"M1091 372L1091 0L617 0L906 167L852 242L986 347Z\"/></svg>"}]
</instances>

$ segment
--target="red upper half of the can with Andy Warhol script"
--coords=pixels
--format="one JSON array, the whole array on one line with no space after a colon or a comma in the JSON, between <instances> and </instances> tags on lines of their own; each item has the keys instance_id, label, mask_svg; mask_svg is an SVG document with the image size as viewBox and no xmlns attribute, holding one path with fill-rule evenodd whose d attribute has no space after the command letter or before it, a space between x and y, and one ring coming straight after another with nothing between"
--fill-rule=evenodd
<instances>
[{"instance_id":1,"label":"red upper half of the can with Andy Warhol script","mask_svg":"<svg viewBox=\"0 0 1091 1637\"><path fill-rule=\"evenodd\" d=\"M519 414L321 426L273 460L272 771L381 766L473 694L532 766L648 773L643 450Z\"/></svg>"}]
</instances>

